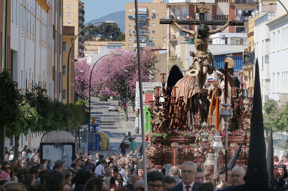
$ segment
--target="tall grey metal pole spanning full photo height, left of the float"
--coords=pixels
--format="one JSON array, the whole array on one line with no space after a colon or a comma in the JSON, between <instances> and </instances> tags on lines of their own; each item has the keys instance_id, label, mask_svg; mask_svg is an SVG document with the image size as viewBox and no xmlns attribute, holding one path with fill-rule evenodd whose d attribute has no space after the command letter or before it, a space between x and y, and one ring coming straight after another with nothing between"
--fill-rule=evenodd
<instances>
[{"instance_id":1,"label":"tall grey metal pole spanning full photo height, left of the float","mask_svg":"<svg viewBox=\"0 0 288 191\"><path fill-rule=\"evenodd\" d=\"M143 90L142 90L142 69L141 69L141 50L139 41L139 18L138 18L138 1L135 0L135 22L136 22L136 38L137 38L137 54L138 54L138 79L139 79L139 92L140 92L140 121L141 121L141 134L142 134L142 153L143 153L143 179L144 190L147 191L147 167L146 167L146 154L145 154L145 131L144 131L144 110L143 110Z\"/></svg>"}]
</instances>

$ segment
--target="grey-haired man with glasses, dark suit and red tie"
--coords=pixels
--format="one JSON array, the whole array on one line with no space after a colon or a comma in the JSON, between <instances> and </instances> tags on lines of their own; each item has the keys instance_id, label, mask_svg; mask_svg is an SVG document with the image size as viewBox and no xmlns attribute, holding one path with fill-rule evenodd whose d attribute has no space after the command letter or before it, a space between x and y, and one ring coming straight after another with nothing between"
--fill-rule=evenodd
<instances>
[{"instance_id":1,"label":"grey-haired man with glasses, dark suit and red tie","mask_svg":"<svg viewBox=\"0 0 288 191\"><path fill-rule=\"evenodd\" d=\"M200 186L198 182L194 181L196 168L197 165L194 162L184 162L181 167L182 184L170 188L169 191L195 191Z\"/></svg>"}]
</instances>

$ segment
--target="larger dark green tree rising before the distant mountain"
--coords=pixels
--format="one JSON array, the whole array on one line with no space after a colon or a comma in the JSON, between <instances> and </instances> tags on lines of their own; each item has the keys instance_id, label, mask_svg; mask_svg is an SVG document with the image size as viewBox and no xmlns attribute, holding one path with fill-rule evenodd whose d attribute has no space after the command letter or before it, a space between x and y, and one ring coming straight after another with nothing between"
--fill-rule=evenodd
<instances>
[{"instance_id":1,"label":"larger dark green tree rising before the distant mountain","mask_svg":"<svg viewBox=\"0 0 288 191\"><path fill-rule=\"evenodd\" d=\"M105 41L115 41L115 38L119 37L122 34L120 28L118 27L118 24L116 23L101 23L101 25L99 25L99 31L101 34L100 40Z\"/></svg>"}]
</instances>

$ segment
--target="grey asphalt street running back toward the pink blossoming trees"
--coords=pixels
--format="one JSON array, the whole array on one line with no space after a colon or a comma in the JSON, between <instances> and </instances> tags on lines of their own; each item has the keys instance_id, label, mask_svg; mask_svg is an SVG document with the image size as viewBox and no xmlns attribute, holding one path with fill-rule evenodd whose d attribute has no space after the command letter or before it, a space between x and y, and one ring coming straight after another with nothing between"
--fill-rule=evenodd
<instances>
[{"instance_id":1,"label":"grey asphalt street running back toward the pink blossoming trees","mask_svg":"<svg viewBox=\"0 0 288 191\"><path fill-rule=\"evenodd\" d=\"M99 151L99 153L104 156L113 154L113 152L120 154L119 145L124 138L124 132L128 134L128 131L130 131L133 136L135 134L135 112L132 112L132 108L130 108L132 120L130 123L126 122L123 114L120 114L120 107L118 108L119 111L108 111L109 105L112 103L117 104L117 102L118 100L111 101L110 99L108 99L108 101L99 101L99 98L91 97L91 118L95 117L103 132L110 137L109 150ZM135 141L140 149L141 137L137 136ZM96 151L93 153L96 153Z\"/></svg>"}]
</instances>

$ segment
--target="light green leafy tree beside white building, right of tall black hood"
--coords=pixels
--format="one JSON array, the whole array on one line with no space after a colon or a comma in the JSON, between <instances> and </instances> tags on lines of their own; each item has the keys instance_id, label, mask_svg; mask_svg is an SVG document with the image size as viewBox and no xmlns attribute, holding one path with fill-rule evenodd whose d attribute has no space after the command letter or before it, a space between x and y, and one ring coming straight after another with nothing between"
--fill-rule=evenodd
<instances>
[{"instance_id":1,"label":"light green leafy tree beside white building, right of tall black hood","mask_svg":"<svg viewBox=\"0 0 288 191\"><path fill-rule=\"evenodd\" d=\"M268 99L263 105L263 110L264 131L266 133L266 143L268 143L270 126L272 126L272 131L274 132L285 131L280 124L283 113L281 107L274 99Z\"/></svg>"}]
</instances>

